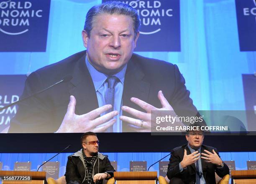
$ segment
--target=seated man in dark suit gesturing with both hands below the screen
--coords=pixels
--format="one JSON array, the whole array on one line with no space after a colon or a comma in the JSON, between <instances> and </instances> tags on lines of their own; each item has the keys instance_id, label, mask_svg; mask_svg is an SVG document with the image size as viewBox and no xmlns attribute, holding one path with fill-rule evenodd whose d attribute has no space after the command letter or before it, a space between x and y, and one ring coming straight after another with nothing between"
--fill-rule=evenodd
<instances>
[{"instance_id":1,"label":"seated man in dark suit gesturing with both hands below the screen","mask_svg":"<svg viewBox=\"0 0 256 184\"><path fill-rule=\"evenodd\" d=\"M217 149L202 145L202 130L187 131L186 139L188 144L170 157L167 170L170 184L216 184L215 172L221 178L229 174L229 168L220 159Z\"/></svg>"}]
</instances>

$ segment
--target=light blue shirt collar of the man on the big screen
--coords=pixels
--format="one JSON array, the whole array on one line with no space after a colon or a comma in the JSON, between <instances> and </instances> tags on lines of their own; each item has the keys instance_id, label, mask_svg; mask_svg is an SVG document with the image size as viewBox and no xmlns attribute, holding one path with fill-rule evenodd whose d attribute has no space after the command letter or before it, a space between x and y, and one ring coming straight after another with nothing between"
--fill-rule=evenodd
<instances>
[{"instance_id":1,"label":"light blue shirt collar of the man on the big screen","mask_svg":"<svg viewBox=\"0 0 256 184\"><path fill-rule=\"evenodd\" d=\"M95 67L93 67L92 64L89 62L89 60L87 59L87 56L85 57L85 64L89 70L91 77L92 77L92 81L93 81L95 90L97 91L102 85L104 85L104 82L108 78L108 75L96 70ZM120 82L122 84L124 84L126 68L127 68L127 64L123 67L123 69L120 72L113 75L115 77L118 77L118 79L120 80Z\"/></svg>"}]
</instances>

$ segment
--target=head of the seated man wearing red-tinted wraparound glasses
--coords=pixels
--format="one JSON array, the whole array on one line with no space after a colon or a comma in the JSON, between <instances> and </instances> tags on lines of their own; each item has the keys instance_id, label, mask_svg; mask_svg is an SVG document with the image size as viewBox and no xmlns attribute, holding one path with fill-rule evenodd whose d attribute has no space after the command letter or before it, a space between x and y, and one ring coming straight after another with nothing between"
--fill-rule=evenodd
<instances>
[{"instance_id":1,"label":"head of the seated man wearing red-tinted wraparound glasses","mask_svg":"<svg viewBox=\"0 0 256 184\"><path fill-rule=\"evenodd\" d=\"M83 143L83 148L85 153L93 155L99 151L99 144L97 143L98 138L95 135L89 135L86 137L85 143Z\"/></svg>"}]
</instances>

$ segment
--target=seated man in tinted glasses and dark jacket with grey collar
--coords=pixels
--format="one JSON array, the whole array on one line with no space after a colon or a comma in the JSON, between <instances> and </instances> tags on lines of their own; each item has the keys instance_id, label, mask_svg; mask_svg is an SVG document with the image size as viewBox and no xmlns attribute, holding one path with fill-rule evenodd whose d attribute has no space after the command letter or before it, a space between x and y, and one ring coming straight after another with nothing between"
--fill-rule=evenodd
<instances>
[{"instance_id":1,"label":"seated man in tinted glasses and dark jacket with grey collar","mask_svg":"<svg viewBox=\"0 0 256 184\"><path fill-rule=\"evenodd\" d=\"M99 150L99 140L94 132L81 137L82 149L70 155L66 167L67 184L101 184L103 179L114 176L115 169L108 155Z\"/></svg>"}]
</instances>

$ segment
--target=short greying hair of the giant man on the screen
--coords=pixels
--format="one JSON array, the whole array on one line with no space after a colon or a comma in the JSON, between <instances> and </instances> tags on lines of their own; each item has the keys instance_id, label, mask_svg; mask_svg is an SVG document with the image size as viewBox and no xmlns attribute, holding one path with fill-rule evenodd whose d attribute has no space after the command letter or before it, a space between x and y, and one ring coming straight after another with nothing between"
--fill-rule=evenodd
<instances>
[{"instance_id":1,"label":"short greying hair of the giant man on the screen","mask_svg":"<svg viewBox=\"0 0 256 184\"><path fill-rule=\"evenodd\" d=\"M84 30L87 32L88 37L90 37L90 32L92 30L92 23L95 16L100 14L118 14L118 15L128 15L133 20L133 30L134 38L139 32L141 26L140 16L138 15L137 10L135 10L130 5L120 2L120 1L107 1L100 5L93 6L86 15L86 20L84 23Z\"/></svg>"}]
</instances>

